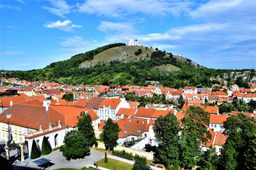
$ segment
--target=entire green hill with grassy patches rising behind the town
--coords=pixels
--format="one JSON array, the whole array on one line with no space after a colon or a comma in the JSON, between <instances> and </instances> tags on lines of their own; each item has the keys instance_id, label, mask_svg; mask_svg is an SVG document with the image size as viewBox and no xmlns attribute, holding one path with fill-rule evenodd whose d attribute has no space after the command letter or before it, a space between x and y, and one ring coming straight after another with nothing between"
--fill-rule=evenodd
<instances>
[{"instance_id":1,"label":"entire green hill with grassy patches rising behind the town","mask_svg":"<svg viewBox=\"0 0 256 170\"><path fill-rule=\"evenodd\" d=\"M6 77L27 81L67 84L147 85L159 81L163 86L211 86L218 77L232 82L237 76L255 80L255 70L215 70L171 52L141 46L112 43L51 63L43 69L7 71ZM217 79L214 79L216 77Z\"/></svg>"}]
</instances>

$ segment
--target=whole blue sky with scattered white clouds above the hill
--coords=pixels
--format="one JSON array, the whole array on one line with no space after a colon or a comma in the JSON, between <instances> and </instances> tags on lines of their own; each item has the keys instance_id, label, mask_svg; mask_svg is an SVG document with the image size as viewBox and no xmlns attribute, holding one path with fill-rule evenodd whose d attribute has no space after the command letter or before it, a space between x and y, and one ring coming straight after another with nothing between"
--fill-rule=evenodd
<instances>
[{"instance_id":1,"label":"whole blue sky with scattered white clouds above the hill","mask_svg":"<svg viewBox=\"0 0 256 170\"><path fill-rule=\"evenodd\" d=\"M254 0L1 0L0 68L44 68L114 42L209 68L256 68Z\"/></svg>"}]
</instances>

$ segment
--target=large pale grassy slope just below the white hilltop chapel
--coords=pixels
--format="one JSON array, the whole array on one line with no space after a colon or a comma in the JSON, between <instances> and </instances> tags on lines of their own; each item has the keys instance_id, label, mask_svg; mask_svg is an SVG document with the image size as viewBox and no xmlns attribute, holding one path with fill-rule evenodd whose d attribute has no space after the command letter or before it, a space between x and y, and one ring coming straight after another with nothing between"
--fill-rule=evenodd
<instances>
[{"instance_id":1,"label":"large pale grassy slope just below the white hilltop chapel","mask_svg":"<svg viewBox=\"0 0 256 170\"><path fill-rule=\"evenodd\" d=\"M138 51L138 49L142 50L142 53L139 56L135 56L134 52ZM88 66L94 66L97 63L103 63L103 62L109 62L114 60L120 60L120 61L134 61L138 58L146 58L147 54L148 56L151 56L153 49L146 49L146 47L141 46L120 46L120 47L113 47L111 49L105 50L104 52L100 52L96 56L93 56L93 60L91 61L84 61L81 63L81 66L88 67Z\"/></svg>"}]
</instances>

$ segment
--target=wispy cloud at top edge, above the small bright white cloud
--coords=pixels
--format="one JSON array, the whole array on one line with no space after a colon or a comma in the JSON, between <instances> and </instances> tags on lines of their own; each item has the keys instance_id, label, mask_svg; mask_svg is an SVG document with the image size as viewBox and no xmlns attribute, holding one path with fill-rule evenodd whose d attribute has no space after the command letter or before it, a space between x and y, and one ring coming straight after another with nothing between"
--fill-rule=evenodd
<instances>
[{"instance_id":1,"label":"wispy cloud at top edge, above the small bright white cloud","mask_svg":"<svg viewBox=\"0 0 256 170\"><path fill-rule=\"evenodd\" d=\"M73 6L68 5L64 0L49 0L49 2L52 6L43 6L43 8L58 17L65 18L65 15L70 13L73 8Z\"/></svg>"}]
</instances>

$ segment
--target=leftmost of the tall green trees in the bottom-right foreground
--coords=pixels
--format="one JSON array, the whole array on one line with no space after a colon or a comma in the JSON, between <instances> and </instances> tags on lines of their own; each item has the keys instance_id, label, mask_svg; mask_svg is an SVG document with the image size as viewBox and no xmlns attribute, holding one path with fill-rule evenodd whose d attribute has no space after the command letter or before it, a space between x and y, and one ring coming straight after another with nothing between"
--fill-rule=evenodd
<instances>
[{"instance_id":1,"label":"leftmost of the tall green trees in the bottom-right foreground","mask_svg":"<svg viewBox=\"0 0 256 170\"><path fill-rule=\"evenodd\" d=\"M154 133L159 143L154 154L156 162L179 169L179 121L172 113L157 118Z\"/></svg>"}]
</instances>

